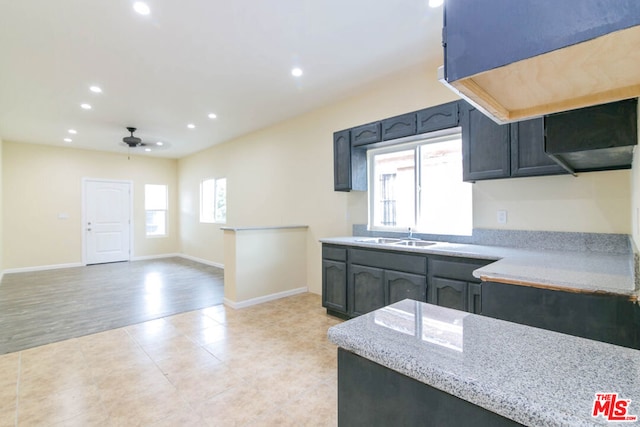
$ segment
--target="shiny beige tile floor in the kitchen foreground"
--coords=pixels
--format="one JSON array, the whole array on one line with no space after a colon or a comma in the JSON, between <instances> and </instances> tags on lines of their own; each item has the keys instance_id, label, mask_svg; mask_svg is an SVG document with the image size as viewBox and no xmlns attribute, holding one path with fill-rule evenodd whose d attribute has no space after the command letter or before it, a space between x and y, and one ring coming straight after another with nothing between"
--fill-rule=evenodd
<instances>
[{"instance_id":1,"label":"shiny beige tile floor in the kitchen foreground","mask_svg":"<svg viewBox=\"0 0 640 427\"><path fill-rule=\"evenodd\" d=\"M191 311L0 356L0 426L335 426L320 296Z\"/></svg>"}]
</instances>

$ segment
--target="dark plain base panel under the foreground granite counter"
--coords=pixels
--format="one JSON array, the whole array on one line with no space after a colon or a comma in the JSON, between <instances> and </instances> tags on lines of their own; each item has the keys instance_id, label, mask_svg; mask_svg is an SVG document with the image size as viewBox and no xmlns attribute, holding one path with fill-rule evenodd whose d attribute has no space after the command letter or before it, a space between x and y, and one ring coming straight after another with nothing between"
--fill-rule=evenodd
<instances>
[{"instance_id":1,"label":"dark plain base panel under the foreground granite counter","mask_svg":"<svg viewBox=\"0 0 640 427\"><path fill-rule=\"evenodd\" d=\"M520 426L515 421L338 349L338 426Z\"/></svg>"}]
</instances>

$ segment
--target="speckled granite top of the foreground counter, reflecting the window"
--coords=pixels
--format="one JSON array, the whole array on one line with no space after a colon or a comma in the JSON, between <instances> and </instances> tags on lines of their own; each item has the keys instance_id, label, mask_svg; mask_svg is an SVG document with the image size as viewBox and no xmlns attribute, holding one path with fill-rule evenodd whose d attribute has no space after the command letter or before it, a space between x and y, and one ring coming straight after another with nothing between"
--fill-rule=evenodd
<instances>
[{"instance_id":1,"label":"speckled granite top of the foreground counter, reflecting the window","mask_svg":"<svg viewBox=\"0 0 640 427\"><path fill-rule=\"evenodd\" d=\"M591 416L595 394L606 392L631 399L628 415L640 416L638 350L412 300L328 335L345 350L525 425L616 425Z\"/></svg>"}]
</instances>

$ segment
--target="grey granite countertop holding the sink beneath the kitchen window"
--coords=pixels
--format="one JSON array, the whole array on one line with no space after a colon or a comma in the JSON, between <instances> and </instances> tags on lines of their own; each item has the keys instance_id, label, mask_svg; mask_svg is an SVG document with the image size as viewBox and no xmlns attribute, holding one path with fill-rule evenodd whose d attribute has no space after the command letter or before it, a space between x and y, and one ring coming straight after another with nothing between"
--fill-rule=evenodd
<instances>
[{"instance_id":1,"label":"grey granite countertop holding the sink beneath the kitchen window","mask_svg":"<svg viewBox=\"0 0 640 427\"><path fill-rule=\"evenodd\" d=\"M579 292L607 292L637 299L631 253L529 250L436 242L426 247L371 243L370 237L334 237L323 243L494 260L473 272L477 278L516 285Z\"/></svg>"}]
</instances>

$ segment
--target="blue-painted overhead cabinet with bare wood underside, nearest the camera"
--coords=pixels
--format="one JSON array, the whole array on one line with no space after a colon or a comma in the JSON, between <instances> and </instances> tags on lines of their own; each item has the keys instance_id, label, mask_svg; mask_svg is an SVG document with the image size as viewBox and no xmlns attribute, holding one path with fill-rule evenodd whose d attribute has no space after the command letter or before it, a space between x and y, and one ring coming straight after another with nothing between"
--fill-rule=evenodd
<instances>
[{"instance_id":1,"label":"blue-painted overhead cabinet with bare wood underside, nearest the camera","mask_svg":"<svg viewBox=\"0 0 640 427\"><path fill-rule=\"evenodd\" d=\"M440 80L497 123L640 96L640 1L447 0Z\"/></svg>"}]
</instances>

